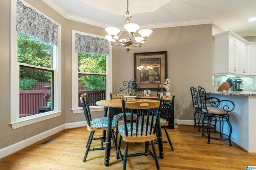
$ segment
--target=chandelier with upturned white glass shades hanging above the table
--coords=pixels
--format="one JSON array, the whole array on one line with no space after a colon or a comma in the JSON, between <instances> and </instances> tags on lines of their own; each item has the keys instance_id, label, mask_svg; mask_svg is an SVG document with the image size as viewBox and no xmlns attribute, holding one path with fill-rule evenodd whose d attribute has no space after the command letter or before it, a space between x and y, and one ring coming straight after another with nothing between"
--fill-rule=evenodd
<instances>
[{"instance_id":1,"label":"chandelier with upturned white glass shades hanging above the table","mask_svg":"<svg viewBox=\"0 0 256 170\"><path fill-rule=\"evenodd\" d=\"M130 50L130 45L134 47L141 47L141 45L147 40L148 36L153 32L151 29L140 29L140 26L136 23L130 23L130 18L132 18L132 14L129 14L128 11L128 5L129 5L129 0L127 0L127 11L126 14L124 15L124 28L126 31L129 33L128 38L124 39L119 39L120 35L117 36L117 34L120 32L120 29L116 27L107 27L105 30L108 32L108 35L106 35L106 39L110 42L110 45L123 45L124 48L126 49L127 53ZM141 37L135 37L134 33L138 30L138 33L141 35ZM117 41L120 44L114 44L114 42Z\"/></svg>"}]
</instances>

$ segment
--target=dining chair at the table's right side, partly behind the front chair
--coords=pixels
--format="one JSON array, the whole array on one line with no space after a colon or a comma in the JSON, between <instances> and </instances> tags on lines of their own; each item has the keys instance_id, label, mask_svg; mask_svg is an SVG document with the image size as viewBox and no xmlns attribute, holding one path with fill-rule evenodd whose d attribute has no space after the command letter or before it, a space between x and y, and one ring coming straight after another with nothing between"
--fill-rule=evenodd
<instances>
[{"instance_id":1,"label":"dining chair at the table's right side, partly behind the front chair","mask_svg":"<svg viewBox=\"0 0 256 170\"><path fill-rule=\"evenodd\" d=\"M164 128L166 137L168 139L168 141L162 141L162 143L169 143L172 150L174 150L174 148L172 146L172 141L170 139L170 136L169 136L169 133L166 129L166 126L169 125L168 120L169 120L170 114L172 113L172 107L173 107L173 104L174 104L175 96L176 96L175 93L172 96L163 96L162 108L161 108L161 111L160 111L161 128ZM160 95L158 95L158 100L160 100ZM150 117L150 119L152 118L151 115L149 117ZM142 121L142 116L139 117L139 121ZM154 123L155 123L155 121L156 121L156 117L154 116ZM158 141L155 140L154 144L158 144Z\"/></svg>"}]
</instances>

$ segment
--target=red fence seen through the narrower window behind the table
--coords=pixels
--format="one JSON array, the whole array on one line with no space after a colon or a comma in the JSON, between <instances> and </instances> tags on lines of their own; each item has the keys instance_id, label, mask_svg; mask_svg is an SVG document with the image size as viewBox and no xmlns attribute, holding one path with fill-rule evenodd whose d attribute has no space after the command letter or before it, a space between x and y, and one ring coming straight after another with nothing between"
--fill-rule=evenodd
<instances>
[{"instance_id":1,"label":"red fence seen through the narrower window behind the table","mask_svg":"<svg viewBox=\"0 0 256 170\"><path fill-rule=\"evenodd\" d=\"M82 94L86 93L87 94L87 99L88 99L88 104L89 106L96 106L96 102L98 100L106 100L106 91L105 90L78 90L78 102L79 102L79 107L82 107L82 104L80 102L80 96Z\"/></svg>"}]
</instances>

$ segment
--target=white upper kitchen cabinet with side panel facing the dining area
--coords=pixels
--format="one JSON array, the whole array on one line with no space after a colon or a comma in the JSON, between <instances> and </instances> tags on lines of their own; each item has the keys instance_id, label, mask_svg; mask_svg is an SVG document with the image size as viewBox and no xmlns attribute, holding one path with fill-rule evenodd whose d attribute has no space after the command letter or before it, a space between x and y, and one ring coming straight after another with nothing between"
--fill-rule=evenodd
<instances>
[{"instance_id":1,"label":"white upper kitchen cabinet with side panel facing the dining area","mask_svg":"<svg viewBox=\"0 0 256 170\"><path fill-rule=\"evenodd\" d=\"M214 35L214 74L250 74L248 44L231 31Z\"/></svg>"}]
</instances>

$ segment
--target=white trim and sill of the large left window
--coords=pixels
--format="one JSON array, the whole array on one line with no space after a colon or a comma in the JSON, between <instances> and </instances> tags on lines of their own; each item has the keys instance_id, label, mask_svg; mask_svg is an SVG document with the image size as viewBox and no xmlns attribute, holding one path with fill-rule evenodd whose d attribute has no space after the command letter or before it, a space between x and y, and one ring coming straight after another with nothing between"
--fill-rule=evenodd
<instances>
[{"instance_id":1,"label":"white trim and sill of the large left window","mask_svg":"<svg viewBox=\"0 0 256 170\"><path fill-rule=\"evenodd\" d=\"M20 0L26 6L33 8L39 14L44 15L42 12L31 6L30 4ZM36 115L19 117L19 63L17 59L17 32L16 32L16 0L11 0L11 25L10 25L10 125L12 129L51 119L53 117L60 116L61 114L61 25L52 20L48 16L46 18L59 25L58 27L58 50L53 50L57 57L53 57L53 68L57 68L54 71L54 110L46 113L40 113ZM55 55L55 54L54 54ZM20 64L28 65L29 64ZM36 67L36 66L33 66ZM38 66L37 68L40 68ZM52 70L49 68L49 70Z\"/></svg>"}]
</instances>

